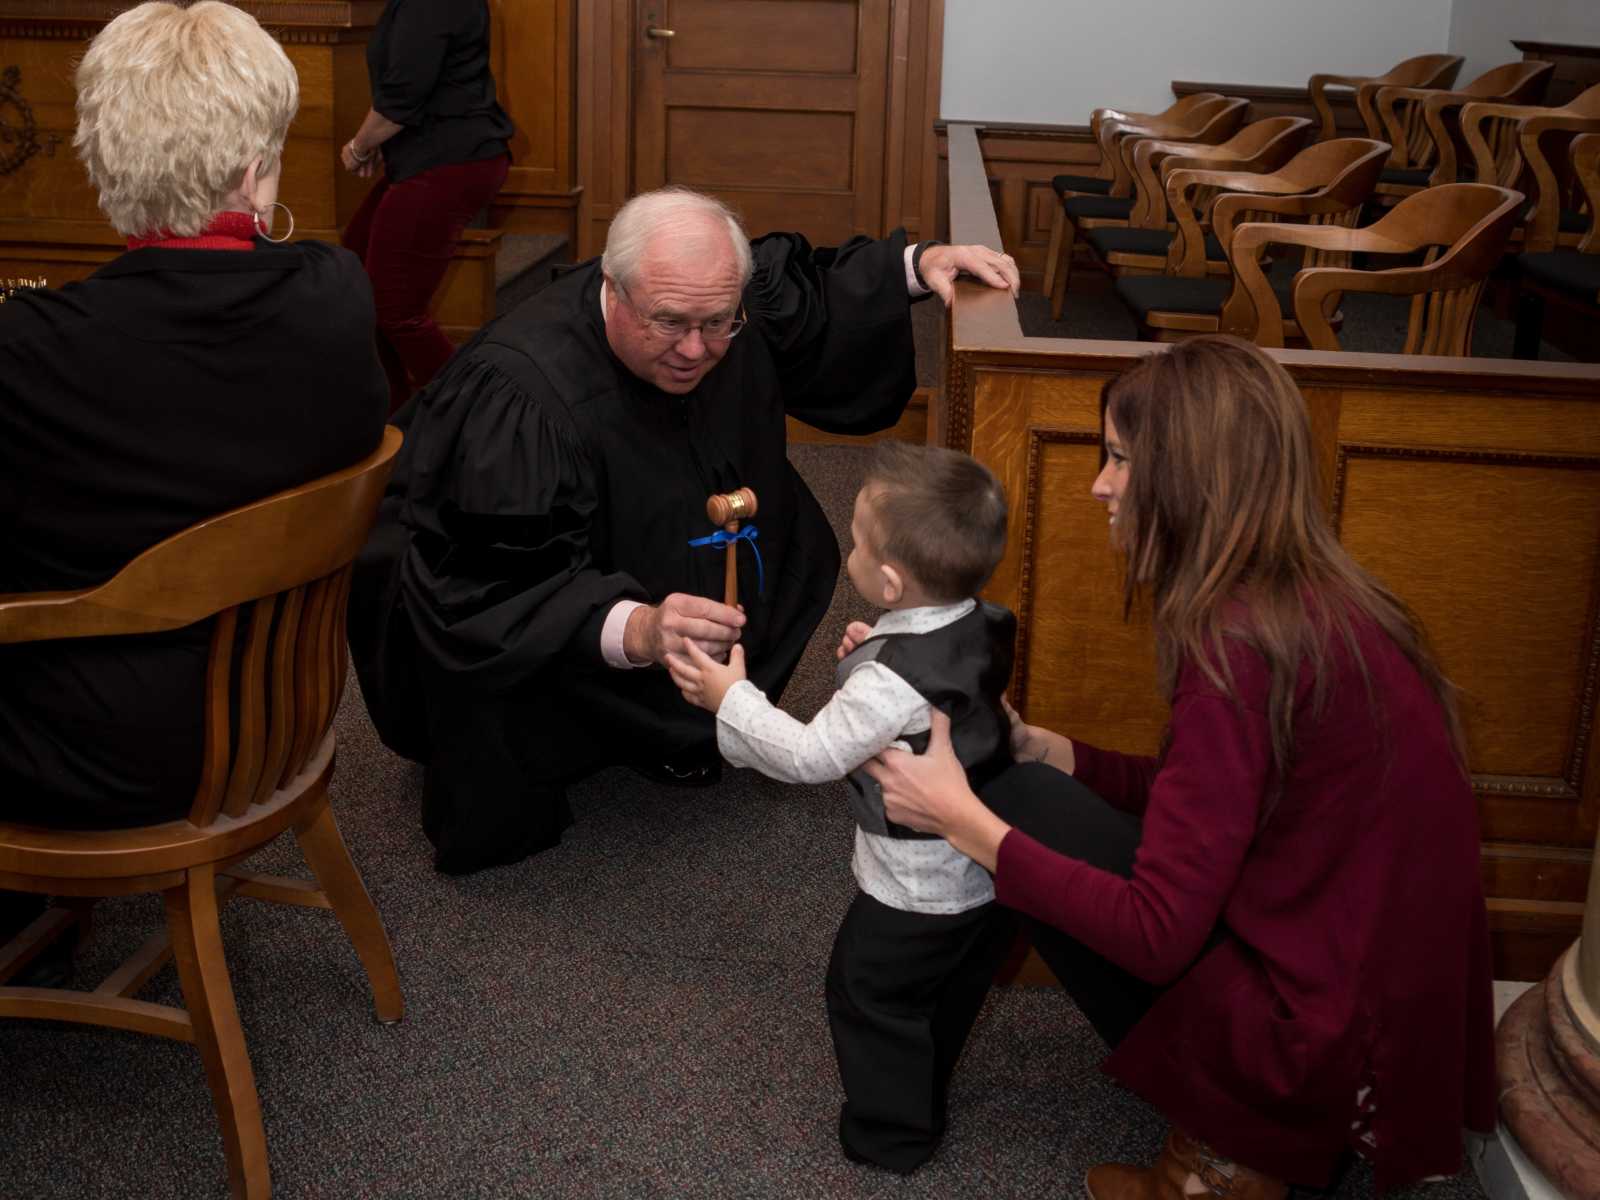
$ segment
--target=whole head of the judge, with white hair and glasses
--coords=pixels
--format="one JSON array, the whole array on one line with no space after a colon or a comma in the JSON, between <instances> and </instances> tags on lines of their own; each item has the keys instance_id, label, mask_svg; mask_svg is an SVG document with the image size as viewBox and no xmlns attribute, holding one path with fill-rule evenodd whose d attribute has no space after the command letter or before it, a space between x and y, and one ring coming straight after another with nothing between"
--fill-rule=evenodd
<instances>
[{"instance_id":1,"label":"whole head of the judge, with white hair and glasses","mask_svg":"<svg viewBox=\"0 0 1600 1200\"><path fill-rule=\"evenodd\" d=\"M693 392L742 325L750 240L739 218L683 187L645 192L611 222L600 267L611 352L662 392Z\"/></svg>"}]
</instances>

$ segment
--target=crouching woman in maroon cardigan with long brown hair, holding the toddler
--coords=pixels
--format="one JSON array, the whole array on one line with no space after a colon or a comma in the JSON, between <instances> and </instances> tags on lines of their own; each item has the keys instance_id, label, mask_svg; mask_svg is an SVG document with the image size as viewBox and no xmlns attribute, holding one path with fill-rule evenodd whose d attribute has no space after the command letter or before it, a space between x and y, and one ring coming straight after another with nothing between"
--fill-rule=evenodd
<instances>
[{"instance_id":1,"label":"crouching woman in maroon cardigan with long brown hair, holding the toddler","mask_svg":"<svg viewBox=\"0 0 1600 1200\"><path fill-rule=\"evenodd\" d=\"M1334 539L1304 402L1259 349L1198 338L1104 397L1094 498L1152 605L1158 758L1014 722L1026 765L966 787L874 766L891 819L995 872L1171 1122L1093 1200L1280 1200L1347 1150L1379 1189L1459 1168L1494 1123L1478 829L1453 690L1406 608Z\"/></svg>"}]
</instances>

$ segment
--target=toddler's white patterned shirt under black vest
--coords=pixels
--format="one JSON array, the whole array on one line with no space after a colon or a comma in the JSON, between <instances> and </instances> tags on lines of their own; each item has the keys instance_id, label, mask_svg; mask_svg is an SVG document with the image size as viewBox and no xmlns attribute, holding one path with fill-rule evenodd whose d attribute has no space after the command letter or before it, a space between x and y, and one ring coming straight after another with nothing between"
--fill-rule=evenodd
<instances>
[{"instance_id":1,"label":"toddler's white patterned shirt under black vest","mask_svg":"<svg viewBox=\"0 0 1600 1200\"><path fill-rule=\"evenodd\" d=\"M872 634L931 634L973 611L958 605L885 613ZM786 784L843 779L880 750L906 749L906 734L925 733L930 706L910 683L867 661L810 723L773 707L749 680L734 683L717 710L717 749L734 766L754 766ZM994 880L944 838L896 838L856 827L850 862L856 883L875 901L904 912L949 915L994 899Z\"/></svg>"}]
</instances>

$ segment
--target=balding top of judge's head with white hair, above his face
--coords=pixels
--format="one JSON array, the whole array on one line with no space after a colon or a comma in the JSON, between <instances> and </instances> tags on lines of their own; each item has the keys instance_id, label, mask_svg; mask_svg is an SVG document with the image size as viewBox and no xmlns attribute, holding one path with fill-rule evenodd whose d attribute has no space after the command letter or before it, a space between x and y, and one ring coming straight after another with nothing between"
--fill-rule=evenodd
<instances>
[{"instance_id":1,"label":"balding top of judge's head with white hair, above his face","mask_svg":"<svg viewBox=\"0 0 1600 1200\"><path fill-rule=\"evenodd\" d=\"M733 254L739 290L750 282L750 238L722 200L688 187L640 192L611 219L600 269L624 288L638 282L646 259L704 261Z\"/></svg>"}]
</instances>

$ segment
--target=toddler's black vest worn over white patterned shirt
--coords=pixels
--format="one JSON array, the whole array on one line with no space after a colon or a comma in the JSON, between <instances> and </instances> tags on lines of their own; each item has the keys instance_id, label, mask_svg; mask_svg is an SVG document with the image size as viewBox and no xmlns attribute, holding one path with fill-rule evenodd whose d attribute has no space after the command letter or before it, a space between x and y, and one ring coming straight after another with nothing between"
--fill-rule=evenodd
<instances>
[{"instance_id":1,"label":"toddler's black vest worn over white patterned shirt","mask_svg":"<svg viewBox=\"0 0 1600 1200\"><path fill-rule=\"evenodd\" d=\"M1011 765L1011 722L1000 707L1000 696L1011 682L1016 646L1016 618L998 605L978 606L958 621L926 634L883 634L870 637L838 664L838 683L862 662L880 662L893 670L923 699L950 718L955 757L966 768L973 790ZM928 733L904 736L922 754ZM850 773L850 808L856 824L869 834L899 838L933 838L896 826L883 816L883 792L862 770Z\"/></svg>"}]
</instances>

